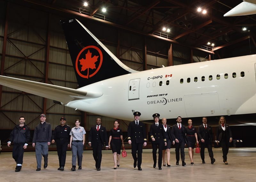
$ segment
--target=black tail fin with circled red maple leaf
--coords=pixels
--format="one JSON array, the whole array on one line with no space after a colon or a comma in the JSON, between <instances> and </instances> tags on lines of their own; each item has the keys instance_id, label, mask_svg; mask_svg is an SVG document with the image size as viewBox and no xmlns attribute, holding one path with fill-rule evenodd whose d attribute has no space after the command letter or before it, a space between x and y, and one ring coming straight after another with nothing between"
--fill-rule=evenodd
<instances>
[{"instance_id":1,"label":"black tail fin with circled red maple leaf","mask_svg":"<svg viewBox=\"0 0 256 182\"><path fill-rule=\"evenodd\" d=\"M76 20L61 21L78 86L137 72L125 66L84 25Z\"/></svg>"}]
</instances>

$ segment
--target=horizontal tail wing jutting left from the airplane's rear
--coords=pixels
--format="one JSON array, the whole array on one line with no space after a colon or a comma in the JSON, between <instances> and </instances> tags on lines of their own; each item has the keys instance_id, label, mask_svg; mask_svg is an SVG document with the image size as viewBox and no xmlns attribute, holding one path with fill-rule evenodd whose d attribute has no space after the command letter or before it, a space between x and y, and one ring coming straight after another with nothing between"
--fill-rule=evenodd
<instances>
[{"instance_id":1,"label":"horizontal tail wing jutting left from the airplane's rear","mask_svg":"<svg viewBox=\"0 0 256 182\"><path fill-rule=\"evenodd\" d=\"M67 104L68 102L77 99L93 99L100 97L103 94L70 89L57 85L12 78L8 76L0 76L0 84L48 99L57 100L63 104Z\"/></svg>"}]
</instances>

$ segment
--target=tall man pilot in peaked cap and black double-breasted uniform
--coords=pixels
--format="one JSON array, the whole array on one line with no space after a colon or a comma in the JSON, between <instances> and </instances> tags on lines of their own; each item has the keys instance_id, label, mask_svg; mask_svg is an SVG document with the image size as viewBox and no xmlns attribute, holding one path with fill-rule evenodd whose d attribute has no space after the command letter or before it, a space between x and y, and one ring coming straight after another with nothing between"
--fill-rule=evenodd
<instances>
[{"instance_id":1,"label":"tall man pilot in peaked cap and black double-breasted uniform","mask_svg":"<svg viewBox=\"0 0 256 182\"><path fill-rule=\"evenodd\" d=\"M142 170L142 147L147 146L146 127L144 123L139 121L140 112L134 112L133 115L134 121L129 123L127 129L128 143L132 145L133 167L136 168L138 165L138 170Z\"/></svg>"}]
</instances>

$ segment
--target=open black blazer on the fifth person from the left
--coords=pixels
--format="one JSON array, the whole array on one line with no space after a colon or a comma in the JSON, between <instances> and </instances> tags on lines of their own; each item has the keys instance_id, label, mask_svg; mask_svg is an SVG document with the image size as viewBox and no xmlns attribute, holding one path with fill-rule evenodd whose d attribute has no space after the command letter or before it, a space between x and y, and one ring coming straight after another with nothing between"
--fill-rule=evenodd
<instances>
[{"instance_id":1,"label":"open black blazer on the fifth person from the left","mask_svg":"<svg viewBox=\"0 0 256 182\"><path fill-rule=\"evenodd\" d=\"M100 133L100 141L101 141L102 145L104 146L104 142L106 143L106 145L108 145L108 135L107 135L106 128L104 126L100 125L99 133ZM97 128L96 128L96 126L92 126L90 133L89 133L88 142L91 142L92 146L97 144Z\"/></svg>"}]
</instances>

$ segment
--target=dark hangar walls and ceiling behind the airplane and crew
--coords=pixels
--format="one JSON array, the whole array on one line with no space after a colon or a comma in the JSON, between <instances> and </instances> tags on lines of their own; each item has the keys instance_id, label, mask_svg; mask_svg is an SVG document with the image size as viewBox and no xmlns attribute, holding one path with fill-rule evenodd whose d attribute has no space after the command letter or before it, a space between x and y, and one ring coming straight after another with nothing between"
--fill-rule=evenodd
<instances>
[{"instance_id":1,"label":"dark hangar walls and ceiling behind the airplane and crew","mask_svg":"<svg viewBox=\"0 0 256 182\"><path fill-rule=\"evenodd\" d=\"M256 15L223 17L239 1L87 2L85 6L84 0L0 0L1 75L76 89L60 25L60 20L69 18L80 20L117 58L138 71L256 53ZM103 7L106 12L102 12ZM206 13L198 12L198 7ZM98 117L108 131L118 119L80 112L2 85L0 103L3 151L11 151L6 142L20 116L25 116L31 136L41 113L46 114L52 129L62 116L71 127L80 119L87 134ZM168 122L172 125L175 120ZM121 120L124 136L128 123ZM244 146L256 146L250 142L255 121L236 124L232 129L237 139L244 140Z\"/></svg>"}]
</instances>

